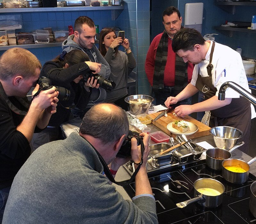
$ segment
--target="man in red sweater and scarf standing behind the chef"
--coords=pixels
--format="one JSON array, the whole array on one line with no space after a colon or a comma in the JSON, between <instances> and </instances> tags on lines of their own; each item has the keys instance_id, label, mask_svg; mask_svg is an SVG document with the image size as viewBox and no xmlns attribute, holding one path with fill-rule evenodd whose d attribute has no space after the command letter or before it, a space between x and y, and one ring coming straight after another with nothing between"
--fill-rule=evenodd
<instances>
[{"instance_id":1,"label":"man in red sweater and scarf standing behind the chef","mask_svg":"<svg viewBox=\"0 0 256 224\"><path fill-rule=\"evenodd\" d=\"M169 96L179 94L190 82L194 65L185 63L172 50L172 38L181 27L182 17L174 6L163 12L164 32L158 34L149 46L145 71L152 86L152 94L156 105L164 105ZM180 104L191 104L191 98L182 100Z\"/></svg>"}]
</instances>

